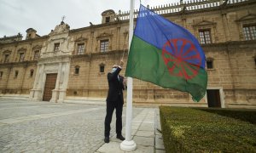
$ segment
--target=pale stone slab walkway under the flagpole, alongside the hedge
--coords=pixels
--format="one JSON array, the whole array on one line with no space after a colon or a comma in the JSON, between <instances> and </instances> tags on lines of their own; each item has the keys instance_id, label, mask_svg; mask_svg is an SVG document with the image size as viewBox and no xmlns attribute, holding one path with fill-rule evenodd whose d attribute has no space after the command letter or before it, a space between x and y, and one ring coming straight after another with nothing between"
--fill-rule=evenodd
<instances>
[{"instance_id":1,"label":"pale stone slab walkway under the flagpole, alongside the hedge","mask_svg":"<svg viewBox=\"0 0 256 153\"><path fill-rule=\"evenodd\" d=\"M137 144L137 149L131 152L134 152L134 153L135 152L136 153L165 152L165 148L161 141L162 140L161 135L156 129L156 127L159 127L159 125L155 125L156 123L159 123L159 119L156 118L159 116L157 114L159 114L158 109L144 109L136 117L133 118L132 125L131 125L131 129L132 129L131 136L134 142ZM125 127L123 127L123 132L125 132ZM157 137L156 137L156 134L157 134ZM97 153L112 152L113 148L115 152L127 152L127 151L120 150L120 143L121 143L120 141L116 141L116 139L112 137L110 139L109 144L103 144L102 147L99 148L99 150L96 150L96 152Z\"/></svg>"}]
</instances>

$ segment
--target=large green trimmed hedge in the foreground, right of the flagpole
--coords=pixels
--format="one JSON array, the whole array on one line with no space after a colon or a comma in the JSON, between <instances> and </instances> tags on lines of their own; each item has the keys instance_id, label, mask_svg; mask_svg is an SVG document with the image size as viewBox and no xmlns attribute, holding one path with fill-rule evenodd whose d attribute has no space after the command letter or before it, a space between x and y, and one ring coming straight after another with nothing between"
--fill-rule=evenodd
<instances>
[{"instance_id":1,"label":"large green trimmed hedge in the foreground, right of the flagpole","mask_svg":"<svg viewBox=\"0 0 256 153\"><path fill-rule=\"evenodd\" d=\"M160 106L166 152L256 152L256 126L192 108Z\"/></svg>"}]
</instances>

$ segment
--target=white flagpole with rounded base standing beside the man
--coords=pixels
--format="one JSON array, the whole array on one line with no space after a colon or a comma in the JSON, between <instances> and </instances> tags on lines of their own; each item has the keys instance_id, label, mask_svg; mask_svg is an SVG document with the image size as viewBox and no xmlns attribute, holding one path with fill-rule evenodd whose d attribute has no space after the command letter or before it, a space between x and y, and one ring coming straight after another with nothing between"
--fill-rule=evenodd
<instances>
[{"instance_id":1,"label":"white flagpole with rounded base standing beside the man","mask_svg":"<svg viewBox=\"0 0 256 153\"><path fill-rule=\"evenodd\" d=\"M130 25L129 25L129 51L131 46L131 38L133 36L133 14L134 0L130 4ZM131 138L131 120L132 120L132 78L127 78L127 99L126 99L126 124L125 124L125 140L120 144L121 150L136 150L137 144Z\"/></svg>"}]
</instances>

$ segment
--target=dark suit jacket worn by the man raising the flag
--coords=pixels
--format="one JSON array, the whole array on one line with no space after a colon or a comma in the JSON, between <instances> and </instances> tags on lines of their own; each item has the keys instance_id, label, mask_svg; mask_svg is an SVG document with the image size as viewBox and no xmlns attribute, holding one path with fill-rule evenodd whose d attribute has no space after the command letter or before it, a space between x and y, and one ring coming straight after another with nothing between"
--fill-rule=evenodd
<instances>
[{"instance_id":1,"label":"dark suit jacket worn by the man raising the flag","mask_svg":"<svg viewBox=\"0 0 256 153\"><path fill-rule=\"evenodd\" d=\"M108 97L107 101L118 101L119 98L121 103L124 104L123 90L125 89L123 85L124 77L118 75L121 69L118 67L113 73L108 73Z\"/></svg>"}]
</instances>

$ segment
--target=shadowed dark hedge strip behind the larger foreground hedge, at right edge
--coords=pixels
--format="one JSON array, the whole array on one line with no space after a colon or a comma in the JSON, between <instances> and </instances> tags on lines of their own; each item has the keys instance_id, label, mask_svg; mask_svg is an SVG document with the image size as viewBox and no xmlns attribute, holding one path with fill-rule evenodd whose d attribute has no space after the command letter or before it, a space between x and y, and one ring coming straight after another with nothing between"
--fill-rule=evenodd
<instances>
[{"instance_id":1,"label":"shadowed dark hedge strip behind the larger foreground hedge, at right edge","mask_svg":"<svg viewBox=\"0 0 256 153\"><path fill-rule=\"evenodd\" d=\"M196 108L201 111L216 113L220 116L229 116L244 122L251 122L256 124L255 110L241 110L241 109L219 109L219 108Z\"/></svg>"}]
</instances>

